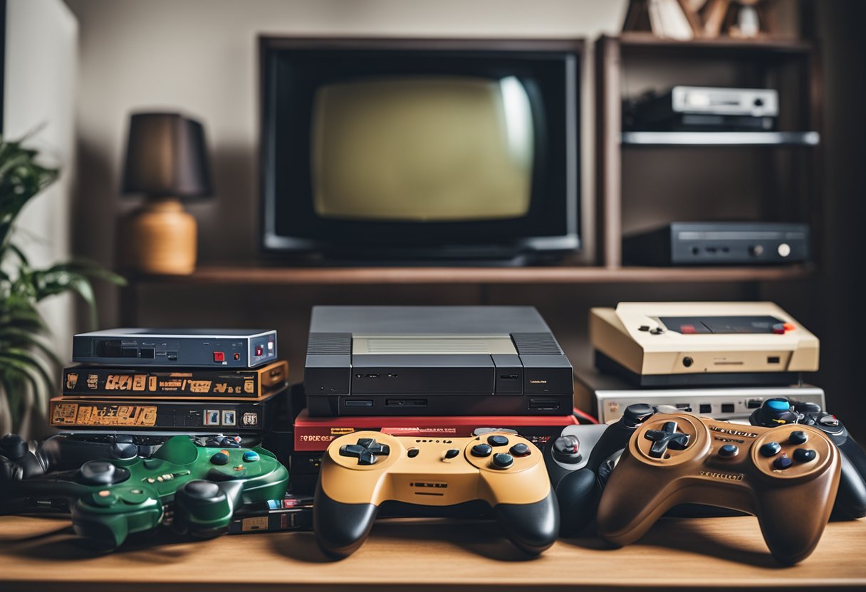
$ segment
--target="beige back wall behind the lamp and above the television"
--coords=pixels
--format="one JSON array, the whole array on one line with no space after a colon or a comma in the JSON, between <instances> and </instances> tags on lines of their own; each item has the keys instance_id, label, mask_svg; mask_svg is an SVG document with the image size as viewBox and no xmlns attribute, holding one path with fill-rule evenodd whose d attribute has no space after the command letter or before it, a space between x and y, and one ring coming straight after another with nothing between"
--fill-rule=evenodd
<instances>
[{"instance_id":1,"label":"beige back wall behind the lamp and above the television","mask_svg":"<svg viewBox=\"0 0 866 592\"><path fill-rule=\"evenodd\" d=\"M202 261L255 257L257 35L585 37L619 29L625 0L67 0L81 22L75 247L110 263L132 109L204 120L216 199L192 203ZM584 73L585 82L589 80ZM582 192L592 196L591 85ZM591 219L591 204L585 219ZM591 229L590 229L591 232ZM586 238L591 239L591 236ZM114 304L103 306L106 322Z\"/></svg>"}]
</instances>

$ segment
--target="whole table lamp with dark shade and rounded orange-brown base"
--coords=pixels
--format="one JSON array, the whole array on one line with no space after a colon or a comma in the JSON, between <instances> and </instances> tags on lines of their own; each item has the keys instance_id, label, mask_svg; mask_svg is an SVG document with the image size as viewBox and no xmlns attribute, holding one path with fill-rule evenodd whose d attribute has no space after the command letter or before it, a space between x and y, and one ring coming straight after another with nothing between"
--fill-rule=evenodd
<instances>
[{"instance_id":1,"label":"whole table lamp with dark shade and rounded orange-brown base","mask_svg":"<svg viewBox=\"0 0 866 592\"><path fill-rule=\"evenodd\" d=\"M181 198L210 195L204 127L179 113L133 113L123 192L145 202L118 223L121 267L154 274L196 268L196 219Z\"/></svg>"}]
</instances>

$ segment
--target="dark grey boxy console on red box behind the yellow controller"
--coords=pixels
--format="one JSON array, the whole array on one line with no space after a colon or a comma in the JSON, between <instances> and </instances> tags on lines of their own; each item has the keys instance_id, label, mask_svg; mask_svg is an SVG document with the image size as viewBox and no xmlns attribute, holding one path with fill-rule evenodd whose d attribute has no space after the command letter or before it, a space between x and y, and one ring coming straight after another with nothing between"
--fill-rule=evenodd
<instances>
[{"instance_id":1,"label":"dark grey boxy console on red box behind the yellow controller","mask_svg":"<svg viewBox=\"0 0 866 592\"><path fill-rule=\"evenodd\" d=\"M531 306L315 306L311 416L563 415L572 364Z\"/></svg>"}]
</instances>

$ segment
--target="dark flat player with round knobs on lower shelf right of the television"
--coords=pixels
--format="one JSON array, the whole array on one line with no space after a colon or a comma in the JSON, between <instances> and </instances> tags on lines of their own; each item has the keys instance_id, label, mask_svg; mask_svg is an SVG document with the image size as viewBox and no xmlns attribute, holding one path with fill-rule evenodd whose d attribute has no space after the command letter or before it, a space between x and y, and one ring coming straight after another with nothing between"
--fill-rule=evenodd
<instances>
[{"instance_id":1,"label":"dark flat player with round knobs on lower shelf right of the television","mask_svg":"<svg viewBox=\"0 0 866 592\"><path fill-rule=\"evenodd\" d=\"M785 222L671 222L626 236L623 258L653 266L802 263L810 259L810 232Z\"/></svg>"}]
</instances>

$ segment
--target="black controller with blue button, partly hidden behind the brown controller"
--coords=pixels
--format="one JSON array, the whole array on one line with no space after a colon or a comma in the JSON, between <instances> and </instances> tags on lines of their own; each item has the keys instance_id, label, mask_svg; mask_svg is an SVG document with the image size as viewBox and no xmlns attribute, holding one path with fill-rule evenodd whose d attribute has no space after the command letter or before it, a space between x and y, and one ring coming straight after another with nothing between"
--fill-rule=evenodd
<instances>
[{"instance_id":1,"label":"black controller with blue button, partly hidden behind the brown controller","mask_svg":"<svg viewBox=\"0 0 866 592\"><path fill-rule=\"evenodd\" d=\"M842 478L833 505L832 518L855 519L866 516L866 454L836 415L817 404L796 402L784 397L767 399L749 417L753 426L776 428L800 423L820 429L842 453Z\"/></svg>"}]
</instances>

